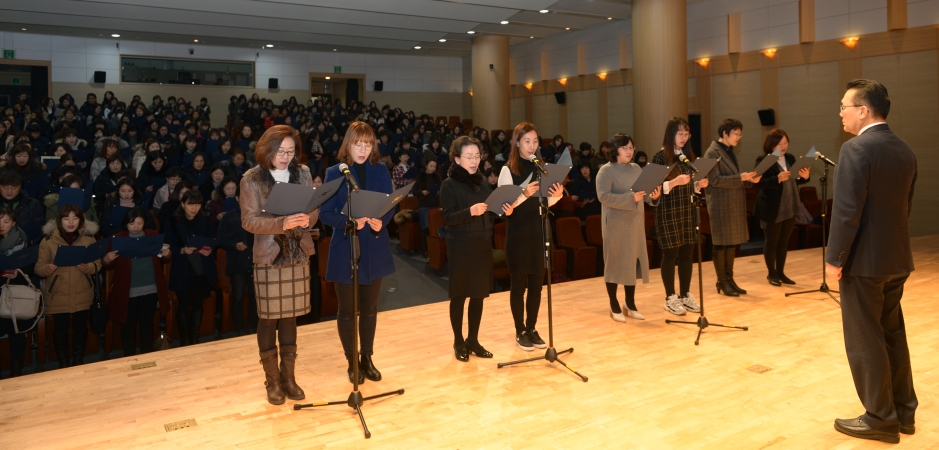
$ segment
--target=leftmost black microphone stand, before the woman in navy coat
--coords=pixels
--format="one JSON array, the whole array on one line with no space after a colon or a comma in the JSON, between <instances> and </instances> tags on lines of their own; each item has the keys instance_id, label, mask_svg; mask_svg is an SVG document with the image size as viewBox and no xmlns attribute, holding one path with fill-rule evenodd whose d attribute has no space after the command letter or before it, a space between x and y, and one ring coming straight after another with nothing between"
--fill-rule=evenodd
<instances>
[{"instance_id":1,"label":"leftmost black microphone stand, before the woman in navy coat","mask_svg":"<svg viewBox=\"0 0 939 450\"><path fill-rule=\"evenodd\" d=\"M358 224L355 219L352 218L352 186L348 181L346 181L346 205L348 214L346 215L345 233L349 236L349 267L351 270L350 273L352 274L352 392L349 394L349 398L345 400L304 404L297 403L293 405L293 409L301 410L304 408L315 408L317 406L348 405L358 413L359 421L362 422L362 429L365 430L365 439L368 439L372 437L372 432L368 431L368 425L365 424L365 416L362 415L362 404L367 400L387 397L389 395L402 395L404 394L404 389L372 395L370 397L362 397L362 393L359 392L359 257L361 254L359 236L356 233Z\"/></svg>"}]
</instances>

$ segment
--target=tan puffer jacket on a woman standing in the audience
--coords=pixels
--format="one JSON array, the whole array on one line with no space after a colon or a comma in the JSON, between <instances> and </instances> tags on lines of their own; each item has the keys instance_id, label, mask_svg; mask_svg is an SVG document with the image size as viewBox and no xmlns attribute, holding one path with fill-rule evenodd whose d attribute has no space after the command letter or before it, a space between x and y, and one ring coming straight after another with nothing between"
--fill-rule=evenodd
<instances>
[{"instance_id":1,"label":"tan puffer jacket on a woman standing in the audience","mask_svg":"<svg viewBox=\"0 0 939 450\"><path fill-rule=\"evenodd\" d=\"M60 245L68 245L65 238L59 233L54 220L50 220L42 227L45 238L39 243L39 260L36 262L35 273L42 278L42 296L45 302L46 314L74 313L91 308L95 291L92 275L95 269L101 269L101 260L88 263L86 271L78 266L58 267L50 273L46 266L55 260L55 253ZM72 243L73 246L88 246L94 244L98 224L85 221L85 227Z\"/></svg>"}]
</instances>

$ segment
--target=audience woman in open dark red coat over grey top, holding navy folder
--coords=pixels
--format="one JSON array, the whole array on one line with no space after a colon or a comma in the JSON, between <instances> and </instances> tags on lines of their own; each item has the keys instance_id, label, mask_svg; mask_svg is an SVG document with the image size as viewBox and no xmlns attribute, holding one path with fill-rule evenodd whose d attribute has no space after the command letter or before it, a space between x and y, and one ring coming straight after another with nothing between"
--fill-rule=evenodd
<instances>
[{"instance_id":1,"label":"audience woman in open dark red coat over grey top, holding navy folder","mask_svg":"<svg viewBox=\"0 0 939 450\"><path fill-rule=\"evenodd\" d=\"M142 208L132 207L121 220L123 230L115 236L140 238L157 235L155 230L144 228L148 216ZM124 258L117 251L110 251L101 258L104 268L111 271L108 319L121 324L124 356L137 354L138 337L141 354L153 351L153 314L157 304L160 315L165 316L169 311L163 263L169 262L171 256L170 249L164 247L159 256L149 258Z\"/></svg>"}]
</instances>

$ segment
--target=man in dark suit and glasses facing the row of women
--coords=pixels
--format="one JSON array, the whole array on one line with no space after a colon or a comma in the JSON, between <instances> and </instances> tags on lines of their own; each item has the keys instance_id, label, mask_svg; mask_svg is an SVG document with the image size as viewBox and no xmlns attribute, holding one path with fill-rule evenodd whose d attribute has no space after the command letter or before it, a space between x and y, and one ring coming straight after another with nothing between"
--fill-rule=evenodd
<instances>
[{"instance_id":1,"label":"man in dark suit and glasses facing the row of women","mask_svg":"<svg viewBox=\"0 0 939 450\"><path fill-rule=\"evenodd\" d=\"M900 442L913 434L918 402L900 299L913 271L909 216L916 182L913 150L887 126L890 98L874 80L848 83L835 169L828 276L840 280L845 350L866 412L835 420L850 436Z\"/></svg>"}]
</instances>

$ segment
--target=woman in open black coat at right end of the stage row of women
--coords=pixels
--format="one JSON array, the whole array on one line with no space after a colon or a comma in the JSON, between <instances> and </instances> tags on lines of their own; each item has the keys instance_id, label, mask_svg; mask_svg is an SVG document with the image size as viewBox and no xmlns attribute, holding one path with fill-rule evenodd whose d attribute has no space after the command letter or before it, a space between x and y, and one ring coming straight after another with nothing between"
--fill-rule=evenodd
<instances>
[{"instance_id":1,"label":"woman in open black coat at right end of the stage row of women","mask_svg":"<svg viewBox=\"0 0 939 450\"><path fill-rule=\"evenodd\" d=\"M766 262L766 276L769 284L781 286L796 284L785 273L786 255L789 253L789 237L795 226L796 217L802 215L802 201L799 199L799 184L809 181L808 167L791 174L789 168L796 163L795 156L789 154L789 135L778 128L766 135L763 141L763 155L756 158L759 165L766 155L779 152L779 161L756 183L759 192L753 215L760 219L766 242L763 244L763 260ZM796 175L798 179L793 179Z\"/></svg>"}]
</instances>

